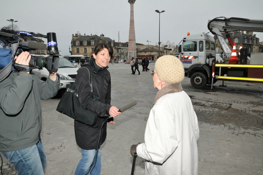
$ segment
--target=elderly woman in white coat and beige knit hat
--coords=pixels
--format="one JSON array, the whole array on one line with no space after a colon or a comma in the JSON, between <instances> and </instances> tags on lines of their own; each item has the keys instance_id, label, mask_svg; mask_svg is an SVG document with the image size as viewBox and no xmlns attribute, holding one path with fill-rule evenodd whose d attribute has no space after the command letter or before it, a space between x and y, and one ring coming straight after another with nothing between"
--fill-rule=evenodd
<instances>
[{"instance_id":1,"label":"elderly woman in white coat and beige knit hat","mask_svg":"<svg viewBox=\"0 0 263 175\"><path fill-rule=\"evenodd\" d=\"M145 143L132 145L131 155L146 159L145 175L197 175L199 127L181 86L183 65L178 58L165 55L156 61L151 75L159 91L147 121Z\"/></svg>"}]
</instances>

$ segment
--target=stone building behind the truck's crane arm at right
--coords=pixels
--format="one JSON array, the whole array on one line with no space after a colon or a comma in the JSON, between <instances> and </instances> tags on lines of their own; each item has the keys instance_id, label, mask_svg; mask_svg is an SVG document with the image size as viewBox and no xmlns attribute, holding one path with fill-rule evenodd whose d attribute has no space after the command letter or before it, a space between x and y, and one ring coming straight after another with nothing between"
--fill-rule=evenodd
<instances>
[{"instance_id":1,"label":"stone building behind the truck's crane arm at right","mask_svg":"<svg viewBox=\"0 0 263 175\"><path fill-rule=\"evenodd\" d=\"M240 43L242 43L242 48L247 48L247 53L251 54L251 53L258 53L259 52L259 38L256 37L256 34L253 35L253 32L246 32L244 33L244 31L236 31L236 32L229 32L229 35L233 41L233 43L236 43L236 50L239 50L240 47ZM223 36L225 36L223 34ZM219 54L222 52L222 48L219 47L218 43L218 38L215 35L214 36L215 39L215 43L216 43L216 54ZM225 37L226 43L228 43L229 47L230 43L227 40L227 38Z\"/></svg>"}]
</instances>

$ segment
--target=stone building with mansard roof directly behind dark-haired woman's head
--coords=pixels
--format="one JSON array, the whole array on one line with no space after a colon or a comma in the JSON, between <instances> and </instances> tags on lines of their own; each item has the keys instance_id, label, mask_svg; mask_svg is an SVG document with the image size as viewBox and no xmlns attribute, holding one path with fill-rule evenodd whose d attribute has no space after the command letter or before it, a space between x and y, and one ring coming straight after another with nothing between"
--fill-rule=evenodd
<instances>
[{"instance_id":1,"label":"stone building with mansard roof directly behind dark-haired woman's head","mask_svg":"<svg viewBox=\"0 0 263 175\"><path fill-rule=\"evenodd\" d=\"M107 42L112 47L115 47L115 41L104 37L103 34L100 36L98 35L80 35L80 33L76 33L75 35L72 34L72 40L71 40L71 55L84 55L84 56L92 56L92 53L94 51L95 46L98 43L101 42Z\"/></svg>"}]
</instances>

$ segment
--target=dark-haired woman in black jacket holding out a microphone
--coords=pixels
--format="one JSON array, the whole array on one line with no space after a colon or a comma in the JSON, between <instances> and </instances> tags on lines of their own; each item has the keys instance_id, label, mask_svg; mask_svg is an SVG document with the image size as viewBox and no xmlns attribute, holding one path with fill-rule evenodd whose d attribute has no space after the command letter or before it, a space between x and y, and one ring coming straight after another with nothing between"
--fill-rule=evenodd
<instances>
[{"instance_id":1,"label":"dark-haired woman in black jacket holding out a microphone","mask_svg":"<svg viewBox=\"0 0 263 175\"><path fill-rule=\"evenodd\" d=\"M92 77L93 93L100 95L100 101L92 98L89 84L89 72L87 69L79 69L75 80L80 104L85 109L92 110L99 116L94 126L86 125L76 120L74 122L76 142L82 152L82 157L76 168L75 175L84 175L89 172L95 157L95 152L97 151L100 128L103 122L107 120L107 116L110 115L115 117L121 114L115 106L110 105L111 80L110 72L107 70L110 60L113 60L113 48L108 43L98 43L94 48L93 59L83 66L89 69ZM114 124L114 121L110 121L109 123ZM90 174L100 174L100 145L103 144L106 139L106 127L107 124L103 126L98 157L91 168Z\"/></svg>"}]
</instances>

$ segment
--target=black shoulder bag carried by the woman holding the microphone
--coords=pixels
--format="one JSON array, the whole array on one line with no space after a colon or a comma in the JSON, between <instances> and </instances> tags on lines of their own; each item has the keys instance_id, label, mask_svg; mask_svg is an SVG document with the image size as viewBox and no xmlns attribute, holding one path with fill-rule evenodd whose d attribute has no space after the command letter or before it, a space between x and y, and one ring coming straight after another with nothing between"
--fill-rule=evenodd
<instances>
[{"instance_id":1,"label":"black shoulder bag carried by the woman holding the microphone","mask_svg":"<svg viewBox=\"0 0 263 175\"><path fill-rule=\"evenodd\" d=\"M89 72L89 69L88 69L88 72ZM92 78L91 78L90 72L89 72L89 85L91 87L93 99L100 101L100 96L98 94L93 93ZM90 126L95 125L98 119L98 115L95 114L91 110L84 109L81 106L79 98L78 98L78 92L75 87L75 83L68 84L66 86L66 89L67 89L66 92L63 94L61 100L58 103L57 111L81 123L85 123Z\"/></svg>"}]
</instances>

